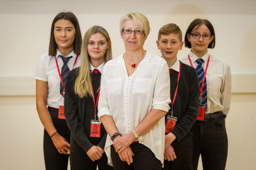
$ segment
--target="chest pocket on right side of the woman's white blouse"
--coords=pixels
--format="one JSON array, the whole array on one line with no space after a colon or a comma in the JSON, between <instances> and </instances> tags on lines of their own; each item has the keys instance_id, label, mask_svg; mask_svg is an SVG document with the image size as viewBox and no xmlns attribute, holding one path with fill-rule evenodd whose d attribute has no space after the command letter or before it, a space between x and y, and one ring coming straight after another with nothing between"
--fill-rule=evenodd
<instances>
[{"instance_id":1,"label":"chest pocket on right side of the woman's white blouse","mask_svg":"<svg viewBox=\"0 0 256 170\"><path fill-rule=\"evenodd\" d=\"M150 95L152 85L151 78L141 78L136 77L134 81L134 86L132 90L132 94L142 94L142 95Z\"/></svg>"}]
</instances>

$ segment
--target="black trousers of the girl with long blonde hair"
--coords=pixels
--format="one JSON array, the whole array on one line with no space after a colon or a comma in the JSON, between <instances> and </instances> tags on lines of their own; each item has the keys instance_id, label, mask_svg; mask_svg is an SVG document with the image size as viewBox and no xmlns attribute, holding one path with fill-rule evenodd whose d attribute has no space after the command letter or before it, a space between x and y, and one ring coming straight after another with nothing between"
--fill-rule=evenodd
<instances>
[{"instance_id":1,"label":"black trousers of the girl with long blonde hair","mask_svg":"<svg viewBox=\"0 0 256 170\"><path fill-rule=\"evenodd\" d=\"M104 153L101 159L95 160L94 162L85 151L80 148L76 149L76 152L70 151L70 165L72 170L96 170L98 165L98 170L113 170L113 167L108 165L108 157Z\"/></svg>"}]
</instances>

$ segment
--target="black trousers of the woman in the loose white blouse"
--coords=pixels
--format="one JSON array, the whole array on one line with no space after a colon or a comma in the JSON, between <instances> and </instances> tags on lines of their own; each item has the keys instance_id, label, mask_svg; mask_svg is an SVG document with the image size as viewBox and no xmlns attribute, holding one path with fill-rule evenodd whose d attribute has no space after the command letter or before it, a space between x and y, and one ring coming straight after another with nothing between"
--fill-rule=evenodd
<instances>
[{"instance_id":1,"label":"black trousers of the woman in the loose white blouse","mask_svg":"<svg viewBox=\"0 0 256 170\"><path fill-rule=\"evenodd\" d=\"M155 154L141 143L132 143L130 145L134 154L133 162L128 165L122 161L119 154L115 152L114 146L111 145L111 159L114 170L161 170L161 161L155 157Z\"/></svg>"}]
</instances>

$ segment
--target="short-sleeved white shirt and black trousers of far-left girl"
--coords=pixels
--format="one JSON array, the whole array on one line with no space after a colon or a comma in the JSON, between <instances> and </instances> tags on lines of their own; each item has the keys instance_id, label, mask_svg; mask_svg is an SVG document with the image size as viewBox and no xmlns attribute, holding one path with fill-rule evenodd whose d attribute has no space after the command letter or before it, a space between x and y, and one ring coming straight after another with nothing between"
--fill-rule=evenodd
<instances>
[{"instance_id":1,"label":"short-sleeved white shirt and black trousers of far-left girl","mask_svg":"<svg viewBox=\"0 0 256 170\"><path fill-rule=\"evenodd\" d=\"M70 130L66 125L66 121L65 119L58 118L59 103L63 102L63 96L60 95L61 82L55 58L57 59L59 68L62 68L64 63L60 55L62 54L58 49L56 56L51 56L48 55L48 53L45 53L38 61L34 79L47 81L47 106L54 127L56 128L57 132L69 142ZM67 66L70 70L80 66L80 55L77 55L74 53L74 51L72 51L67 57L71 57L67 62ZM44 162L46 170L66 170L68 165L68 157L69 155L60 154L58 152L49 134L44 129Z\"/></svg>"}]
</instances>

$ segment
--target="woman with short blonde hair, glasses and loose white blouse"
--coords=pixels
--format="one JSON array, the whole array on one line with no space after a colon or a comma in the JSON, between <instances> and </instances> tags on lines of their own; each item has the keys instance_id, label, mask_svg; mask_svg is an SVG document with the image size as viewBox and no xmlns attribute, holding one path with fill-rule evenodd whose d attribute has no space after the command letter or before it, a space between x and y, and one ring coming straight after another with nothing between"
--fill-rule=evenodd
<instances>
[{"instance_id":1,"label":"woman with short blonde hair, glasses and loose white blouse","mask_svg":"<svg viewBox=\"0 0 256 170\"><path fill-rule=\"evenodd\" d=\"M105 151L114 170L161 170L163 164L170 79L166 61L143 49L149 32L143 14L123 16L125 53L103 69L98 117L109 134Z\"/></svg>"}]
</instances>

